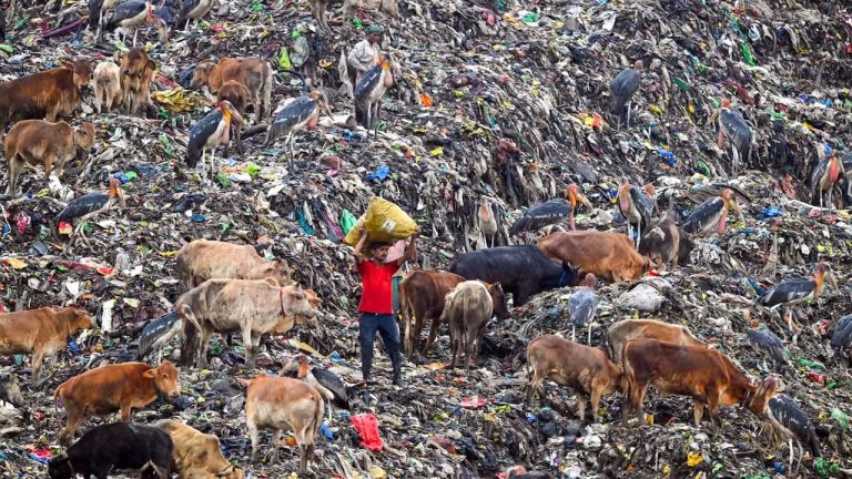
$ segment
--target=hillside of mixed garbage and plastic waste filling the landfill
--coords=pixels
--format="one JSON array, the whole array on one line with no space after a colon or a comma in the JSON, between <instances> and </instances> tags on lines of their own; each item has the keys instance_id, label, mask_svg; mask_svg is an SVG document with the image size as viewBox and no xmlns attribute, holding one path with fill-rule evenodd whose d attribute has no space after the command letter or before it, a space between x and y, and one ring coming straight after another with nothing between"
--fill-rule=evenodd
<instances>
[{"instance_id":1,"label":"hillside of mixed garbage and plastic waste filling the landfill","mask_svg":"<svg viewBox=\"0 0 852 479\"><path fill-rule=\"evenodd\" d=\"M87 2L16 3L0 45L2 80L54 68L65 57L103 60L126 50L111 33L92 41L80 21ZM485 246L483 202L495 208L497 245L534 242L534 232L510 236L509 227L529 206L565 196L570 183L594 205L579 211L578 230L625 232L613 208L625 175L653 183L659 211L671 207L680 221L709 184L734 185L748 201L739 200L742 215L724 233L696 241L687 264L599 287L597 316L577 340L585 343L591 328L591 345L602 346L607 328L631 317L688 326L752 377L777 375L780 390L814 422L822 453L805 459L799 477L852 475L850 363L829 346L838 319L852 313L850 210L849 203L812 206L811 194L813 170L852 144L852 11L843 2L366 3L343 20L338 6L329 6L333 32L317 26L308 2L261 0L222 0L197 29L173 29L166 45L141 28L158 65L156 111L95 113L85 93L69 121L94 123L91 154L68 164L61 184L28 171L24 194L2 196L2 310L78 304L98 322L48 361L52 377L40 388L22 386L23 405L0 409L2 477L47 476L64 424L52 391L100 364L136 360L141 329L184 292L173 256L189 241L267 244L264 255L285 258L294 279L323 299L321 327L265 338L258 369L277 374L302 350L356 384L361 287L344 238L373 196L399 205L420 226L418 268L446 268L458 254ZM343 53L374 23L385 27L382 49L395 80L375 133L356 126L339 86ZM184 157L190 126L214 98L190 88L189 79L202 60L239 55L273 65L275 108L320 88L334 115L298 132L295 153L283 140L265 145L262 129L245 128L244 153L232 149L214 184L204 185ZM628 125L610 111L609 86L636 60L643 70ZM737 172L730 145L718 143L722 100L740 109L752 133ZM70 198L111 177L121 182L125 207L89 221L85 240L71 245L52 220ZM799 308L802 329L793 338L780 312L753 303L771 285L810 275L818 262L831 265L840 291L826 288ZM645 289L630 295L635 288ZM407 388L390 386L389 373L379 385L358 388L352 410L335 409L321 429L316 476L793 477L787 438L739 406L722 407L716 425L696 428L688 398L651 391L647 424L626 429L619 394L604 398L602 424L588 425L578 419L572 391L549 385L544 407L527 408L526 345L570 330L570 293L539 294L510 319L489 324L471 377L444 369L443 335L426 363L406 363ZM748 343L746 310L783 339L787 365ZM163 358L176 359L179 347L173 342ZM239 340L227 346L214 338L207 369L181 367L187 399L143 408L134 420L180 418L216 435L247 477L296 477L292 440L283 462L268 465L263 453L248 462L245 389L234 379L251 376L243 353ZM0 365L29 379L27 356L0 357ZM386 363L377 367L389 370ZM377 419L378 438L365 414ZM516 466L529 476L509 476Z\"/></svg>"}]
</instances>

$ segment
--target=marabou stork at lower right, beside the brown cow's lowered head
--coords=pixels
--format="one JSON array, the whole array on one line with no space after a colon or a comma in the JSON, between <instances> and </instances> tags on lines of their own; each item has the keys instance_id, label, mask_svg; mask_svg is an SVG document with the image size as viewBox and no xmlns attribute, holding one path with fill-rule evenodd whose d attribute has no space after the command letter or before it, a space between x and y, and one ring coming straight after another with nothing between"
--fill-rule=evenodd
<instances>
[{"instance_id":1,"label":"marabou stork at lower right, beside the brown cow's lowered head","mask_svg":"<svg viewBox=\"0 0 852 479\"><path fill-rule=\"evenodd\" d=\"M787 436L790 445L790 468L793 468L793 441L799 446L799 462L791 477L795 477L802 465L804 448L808 445L811 458L820 457L820 441L816 439L816 429L808 415L799 408L795 401L787 395L777 395L767 401L767 417L772 426Z\"/></svg>"}]
</instances>

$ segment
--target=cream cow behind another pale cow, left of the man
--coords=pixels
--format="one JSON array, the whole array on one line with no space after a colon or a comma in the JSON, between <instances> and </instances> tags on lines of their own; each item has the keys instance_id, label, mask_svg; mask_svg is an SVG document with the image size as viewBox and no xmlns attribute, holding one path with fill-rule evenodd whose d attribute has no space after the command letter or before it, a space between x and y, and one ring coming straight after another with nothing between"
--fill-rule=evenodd
<instances>
[{"instance_id":1,"label":"cream cow behind another pale cow, left of the man","mask_svg":"<svg viewBox=\"0 0 852 479\"><path fill-rule=\"evenodd\" d=\"M175 256L175 269L189 291L207 279L265 279L287 285L290 266L284 259L266 261L251 245L195 240Z\"/></svg>"}]
</instances>

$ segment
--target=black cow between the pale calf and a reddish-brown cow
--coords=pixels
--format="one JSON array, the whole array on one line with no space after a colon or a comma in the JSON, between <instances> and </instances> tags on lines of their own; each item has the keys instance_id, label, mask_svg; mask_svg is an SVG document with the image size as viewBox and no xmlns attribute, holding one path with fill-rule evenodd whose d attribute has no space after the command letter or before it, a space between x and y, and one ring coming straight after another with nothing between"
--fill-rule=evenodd
<instances>
[{"instance_id":1,"label":"black cow between the pale calf and a reddish-brown cow","mask_svg":"<svg viewBox=\"0 0 852 479\"><path fill-rule=\"evenodd\" d=\"M499 283L523 306L530 296L548 289L576 286L577 268L548 259L534 245L499 246L459 255L449 272L465 279Z\"/></svg>"}]
</instances>

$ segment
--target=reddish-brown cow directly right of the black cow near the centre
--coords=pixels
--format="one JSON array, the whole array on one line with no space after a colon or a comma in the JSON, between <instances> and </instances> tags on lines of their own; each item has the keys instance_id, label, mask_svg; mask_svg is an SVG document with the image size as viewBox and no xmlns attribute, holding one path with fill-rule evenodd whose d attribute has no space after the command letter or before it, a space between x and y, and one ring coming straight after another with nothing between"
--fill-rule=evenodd
<instances>
[{"instance_id":1,"label":"reddish-brown cow directly right of the black cow near the centre","mask_svg":"<svg viewBox=\"0 0 852 479\"><path fill-rule=\"evenodd\" d=\"M591 273L612 283L637 279L652 266L621 233L551 233L538 242L538 247L549 258L577 266L580 276Z\"/></svg>"}]
</instances>

